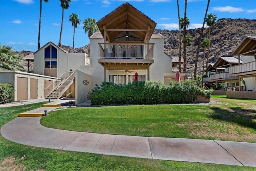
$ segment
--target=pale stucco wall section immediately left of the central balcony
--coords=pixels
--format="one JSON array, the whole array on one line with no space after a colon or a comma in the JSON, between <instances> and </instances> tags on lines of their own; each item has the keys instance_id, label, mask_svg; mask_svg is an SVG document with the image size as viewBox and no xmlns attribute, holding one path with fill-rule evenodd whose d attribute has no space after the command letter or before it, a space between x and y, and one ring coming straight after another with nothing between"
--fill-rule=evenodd
<instances>
[{"instance_id":1,"label":"pale stucco wall section immediately left of the central balcony","mask_svg":"<svg viewBox=\"0 0 256 171\"><path fill-rule=\"evenodd\" d=\"M103 39L90 39L90 53L91 53L91 73L92 73L92 85L98 84L104 81L104 67L98 63L99 58L99 45L103 43Z\"/></svg>"}]
</instances>

